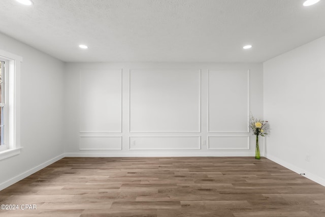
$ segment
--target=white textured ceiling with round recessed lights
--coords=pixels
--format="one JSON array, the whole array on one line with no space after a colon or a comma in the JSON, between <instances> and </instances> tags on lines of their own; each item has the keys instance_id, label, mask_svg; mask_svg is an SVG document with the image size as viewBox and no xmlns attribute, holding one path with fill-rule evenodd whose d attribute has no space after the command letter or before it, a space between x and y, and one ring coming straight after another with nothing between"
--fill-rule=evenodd
<instances>
[{"instance_id":1,"label":"white textured ceiling with round recessed lights","mask_svg":"<svg viewBox=\"0 0 325 217\"><path fill-rule=\"evenodd\" d=\"M0 32L68 62L261 63L325 36L324 0L33 2L2 0Z\"/></svg>"}]
</instances>

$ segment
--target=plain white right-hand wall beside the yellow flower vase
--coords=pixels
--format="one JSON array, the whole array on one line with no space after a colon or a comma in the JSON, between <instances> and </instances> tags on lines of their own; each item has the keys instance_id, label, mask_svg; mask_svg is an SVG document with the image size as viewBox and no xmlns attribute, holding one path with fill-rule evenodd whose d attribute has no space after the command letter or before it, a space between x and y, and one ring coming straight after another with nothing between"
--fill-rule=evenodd
<instances>
[{"instance_id":1,"label":"plain white right-hand wall beside the yellow flower vase","mask_svg":"<svg viewBox=\"0 0 325 217\"><path fill-rule=\"evenodd\" d=\"M266 156L325 185L325 37L264 63Z\"/></svg>"}]
</instances>

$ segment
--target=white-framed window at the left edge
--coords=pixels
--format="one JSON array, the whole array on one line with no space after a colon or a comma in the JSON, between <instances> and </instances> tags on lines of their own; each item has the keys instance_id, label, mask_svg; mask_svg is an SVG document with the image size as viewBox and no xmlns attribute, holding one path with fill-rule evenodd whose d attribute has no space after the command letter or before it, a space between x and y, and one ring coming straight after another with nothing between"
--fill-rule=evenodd
<instances>
[{"instance_id":1,"label":"white-framed window at the left edge","mask_svg":"<svg viewBox=\"0 0 325 217\"><path fill-rule=\"evenodd\" d=\"M20 153L20 63L0 50L0 160Z\"/></svg>"}]
</instances>

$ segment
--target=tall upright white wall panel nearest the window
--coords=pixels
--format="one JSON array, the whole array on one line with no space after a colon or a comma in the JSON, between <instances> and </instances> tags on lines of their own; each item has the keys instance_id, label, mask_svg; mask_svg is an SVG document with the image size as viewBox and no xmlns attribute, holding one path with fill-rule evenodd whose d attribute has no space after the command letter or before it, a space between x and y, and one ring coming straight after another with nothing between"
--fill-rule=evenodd
<instances>
[{"instance_id":1,"label":"tall upright white wall panel nearest the window","mask_svg":"<svg viewBox=\"0 0 325 217\"><path fill-rule=\"evenodd\" d=\"M122 70L80 71L80 132L120 133Z\"/></svg>"}]
</instances>

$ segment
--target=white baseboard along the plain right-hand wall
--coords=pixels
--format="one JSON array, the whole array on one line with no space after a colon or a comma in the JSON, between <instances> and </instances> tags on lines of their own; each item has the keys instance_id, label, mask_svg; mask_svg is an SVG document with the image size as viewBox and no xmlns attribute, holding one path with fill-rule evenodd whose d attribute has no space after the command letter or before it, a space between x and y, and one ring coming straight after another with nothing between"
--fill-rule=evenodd
<instances>
[{"instance_id":1,"label":"white baseboard along the plain right-hand wall","mask_svg":"<svg viewBox=\"0 0 325 217\"><path fill-rule=\"evenodd\" d=\"M312 180L314 182L317 182L318 184L321 184L321 185L325 186L325 179L323 179L323 178L321 178L321 177L319 177L319 176L317 176L315 174L312 174L312 173L310 173L308 171L305 171L305 170L303 170L303 169L301 169L299 167L296 167L296 166L294 166L294 165L292 165L292 164L290 164L288 162L282 161L282 160L280 160L280 159L278 159L278 158L276 158L274 156L270 156L269 154L267 155L266 158L273 161L273 162L275 162L275 163L277 163L277 164L280 164L281 166L283 166L283 167L285 167L285 168L287 168L289 170L292 170L292 171L294 171L294 172L296 172L298 174L305 173L305 175L303 175L303 176L305 176L306 178L308 178L308 179L310 179L310 180Z\"/></svg>"}]
</instances>

